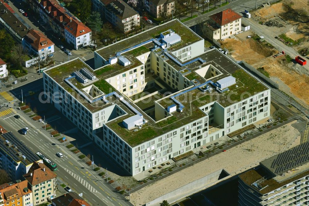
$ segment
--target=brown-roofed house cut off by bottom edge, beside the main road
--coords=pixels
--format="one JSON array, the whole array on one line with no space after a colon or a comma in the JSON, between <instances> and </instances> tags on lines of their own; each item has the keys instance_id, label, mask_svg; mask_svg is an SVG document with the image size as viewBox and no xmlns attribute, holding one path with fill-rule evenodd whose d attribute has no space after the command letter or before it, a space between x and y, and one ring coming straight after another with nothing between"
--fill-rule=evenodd
<instances>
[{"instance_id":1,"label":"brown-roofed house cut off by bottom edge, beside the main road","mask_svg":"<svg viewBox=\"0 0 309 206\"><path fill-rule=\"evenodd\" d=\"M69 192L52 200L52 206L90 206L82 197L76 192Z\"/></svg>"}]
</instances>

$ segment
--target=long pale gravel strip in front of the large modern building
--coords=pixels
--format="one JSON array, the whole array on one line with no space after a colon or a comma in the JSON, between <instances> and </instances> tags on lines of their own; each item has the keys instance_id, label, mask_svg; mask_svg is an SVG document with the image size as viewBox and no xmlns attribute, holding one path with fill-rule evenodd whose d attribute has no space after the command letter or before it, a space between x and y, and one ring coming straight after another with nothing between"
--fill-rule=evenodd
<instances>
[{"instance_id":1,"label":"long pale gravel strip in front of the large modern building","mask_svg":"<svg viewBox=\"0 0 309 206\"><path fill-rule=\"evenodd\" d=\"M275 154L300 144L300 133L291 126L295 121L210 157L131 194L133 205L146 204L168 192L224 168L236 175Z\"/></svg>"}]
</instances>

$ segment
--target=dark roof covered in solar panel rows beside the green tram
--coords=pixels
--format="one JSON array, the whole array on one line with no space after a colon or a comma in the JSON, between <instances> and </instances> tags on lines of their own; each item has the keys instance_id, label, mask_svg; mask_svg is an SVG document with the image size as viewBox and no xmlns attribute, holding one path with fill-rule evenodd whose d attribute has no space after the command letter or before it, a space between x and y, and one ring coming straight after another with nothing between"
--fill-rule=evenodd
<instances>
[{"instance_id":1,"label":"dark roof covered in solar panel rows beside the green tram","mask_svg":"<svg viewBox=\"0 0 309 206\"><path fill-rule=\"evenodd\" d=\"M21 161L23 162L23 164L28 165L29 163L40 160L33 152L29 150L26 145L24 145L19 139L17 139L17 137L15 137L15 135L13 135L11 131L2 134L2 137L3 139L1 139L0 141L1 149L8 155L10 155L14 161ZM16 148L14 146L8 147L4 139L8 140L12 145L16 146ZM17 155L16 153L18 152L20 152L22 155ZM23 157L26 157L26 159L24 159Z\"/></svg>"}]
</instances>

